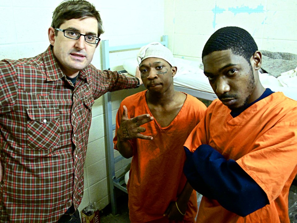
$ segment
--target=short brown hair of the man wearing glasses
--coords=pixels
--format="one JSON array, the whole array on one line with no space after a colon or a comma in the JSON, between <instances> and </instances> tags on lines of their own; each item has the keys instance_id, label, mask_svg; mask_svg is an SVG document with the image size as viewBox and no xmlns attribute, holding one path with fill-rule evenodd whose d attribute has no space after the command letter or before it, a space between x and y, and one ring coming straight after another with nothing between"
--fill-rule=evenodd
<instances>
[{"instance_id":1,"label":"short brown hair of the man wearing glasses","mask_svg":"<svg viewBox=\"0 0 297 223\"><path fill-rule=\"evenodd\" d=\"M99 11L96 10L95 6L85 0L67 0L63 1L54 11L52 27L60 28L65 21L71 19L83 19L92 17L98 22L98 37L104 33L102 28L102 20ZM55 30L55 35L58 31Z\"/></svg>"}]
</instances>

